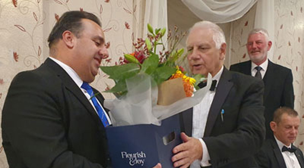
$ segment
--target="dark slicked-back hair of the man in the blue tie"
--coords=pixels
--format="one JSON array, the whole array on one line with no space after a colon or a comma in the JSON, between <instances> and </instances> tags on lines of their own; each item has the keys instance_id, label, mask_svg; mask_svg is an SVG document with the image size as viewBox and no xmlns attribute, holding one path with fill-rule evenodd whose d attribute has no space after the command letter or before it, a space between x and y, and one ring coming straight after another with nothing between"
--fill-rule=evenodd
<instances>
[{"instance_id":1,"label":"dark slicked-back hair of the man in the blue tie","mask_svg":"<svg viewBox=\"0 0 304 168\"><path fill-rule=\"evenodd\" d=\"M92 13L85 11L65 12L59 18L49 35L49 47L51 48L52 44L55 43L58 39L62 39L62 33L66 30L71 31L77 38L79 38L81 35L80 33L83 29L81 22L82 19L89 19L101 26L99 19Z\"/></svg>"}]
</instances>

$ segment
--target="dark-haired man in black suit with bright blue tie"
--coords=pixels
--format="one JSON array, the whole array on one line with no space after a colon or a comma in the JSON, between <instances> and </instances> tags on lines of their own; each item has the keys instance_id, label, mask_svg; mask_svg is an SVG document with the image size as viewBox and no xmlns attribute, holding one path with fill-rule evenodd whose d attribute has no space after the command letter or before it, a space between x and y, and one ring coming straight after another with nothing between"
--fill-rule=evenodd
<instances>
[{"instance_id":1,"label":"dark-haired man in black suit with bright blue tie","mask_svg":"<svg viewBox=\"0 0 304 168\"><path fill-rule=\"evenodd\" d=\"M17 74L5 100L8 163L12 168L108 167L105 127L111 122L104 98L93 96L99 92L88 84L108 57L100 21L91 13L66 12L48 41L50 57Z\"/></svg>"}]
</instances>

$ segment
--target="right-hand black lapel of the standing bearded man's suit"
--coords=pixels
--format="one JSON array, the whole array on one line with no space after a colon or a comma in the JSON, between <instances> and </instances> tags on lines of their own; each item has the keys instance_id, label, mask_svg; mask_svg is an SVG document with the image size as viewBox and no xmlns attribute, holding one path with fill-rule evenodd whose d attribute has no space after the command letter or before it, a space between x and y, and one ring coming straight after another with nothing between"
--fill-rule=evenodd
<instances>
[{"instance_id":1,"label":"right-hand black lapel of the standing bearded man's suit","mask_svg":"<svg viewBox=\"0 0 304 168\"><path fill-rule=\"evenodd\" d=\"M266 97L268 96L270 90L272 90L271 87L273 87L274 85L272 84L273 82L276 82L273 77L273 75L275 74L275 69L274 69L274 63L272 63L270 60L268 60L268 66L267 66L267 71L263 77L263 82L264 82L264 100L266 99Z\"/></svg>"}]
</instances>

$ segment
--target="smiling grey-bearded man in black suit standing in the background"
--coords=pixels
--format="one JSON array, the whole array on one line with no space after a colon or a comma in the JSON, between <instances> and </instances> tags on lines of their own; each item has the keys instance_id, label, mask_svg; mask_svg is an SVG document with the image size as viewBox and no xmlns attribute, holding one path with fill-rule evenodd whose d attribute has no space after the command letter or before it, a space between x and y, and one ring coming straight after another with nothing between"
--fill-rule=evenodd
<instances>
[{"instance_id":1,"label":"smiling grey-bearded man in black suit standing in the background","mask_svg":"<svg viewBox=\"0 0 304 168\"><path fill-rule=\"evenodd\" d=\"M292 73L290 69L267 59L272 42L266 30L252 30L246 46L250 61L232 65L230 70L263 79L266 139L273 138L269 123L273 119L274 111L281 106L293 108L294 105Z\"/></svg>"}]
</instances>

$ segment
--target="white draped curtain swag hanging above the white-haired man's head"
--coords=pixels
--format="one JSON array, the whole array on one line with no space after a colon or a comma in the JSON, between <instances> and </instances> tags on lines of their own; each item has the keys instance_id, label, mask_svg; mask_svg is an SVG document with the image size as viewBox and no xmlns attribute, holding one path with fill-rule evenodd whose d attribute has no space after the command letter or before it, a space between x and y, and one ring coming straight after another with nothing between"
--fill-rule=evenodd
<instances>
[{"instance_id":1,"label":"white draped curtain swag hanging above the white-haired man's head","mask_svg":"<svg viewBox=\"0 0 304 168\"><path fill-rule=\"evenodd\" d=\"M181 0L197 17L213 23L241 18L257 0ZM265 0L268 1L268 0Z\"/></svg>"}]
</instances>

